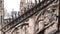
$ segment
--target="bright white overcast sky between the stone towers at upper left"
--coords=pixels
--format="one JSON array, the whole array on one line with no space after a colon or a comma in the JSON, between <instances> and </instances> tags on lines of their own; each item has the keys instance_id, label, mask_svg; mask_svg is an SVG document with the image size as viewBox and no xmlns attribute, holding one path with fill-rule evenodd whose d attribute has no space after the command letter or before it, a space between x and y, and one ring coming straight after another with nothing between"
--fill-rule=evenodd
<instances>
[{"instance_id":1,"label":"bright white overcast sky between the stone towers at upper left","mask_svg":"<svg viewBox=\"0 0 60 34\"><path fill-rule=\"evenodd\" d=\"M20 0L4 0L4 8L7 12L11 12L12 9L19 11Z\"/></svg>"}]
</instances>

